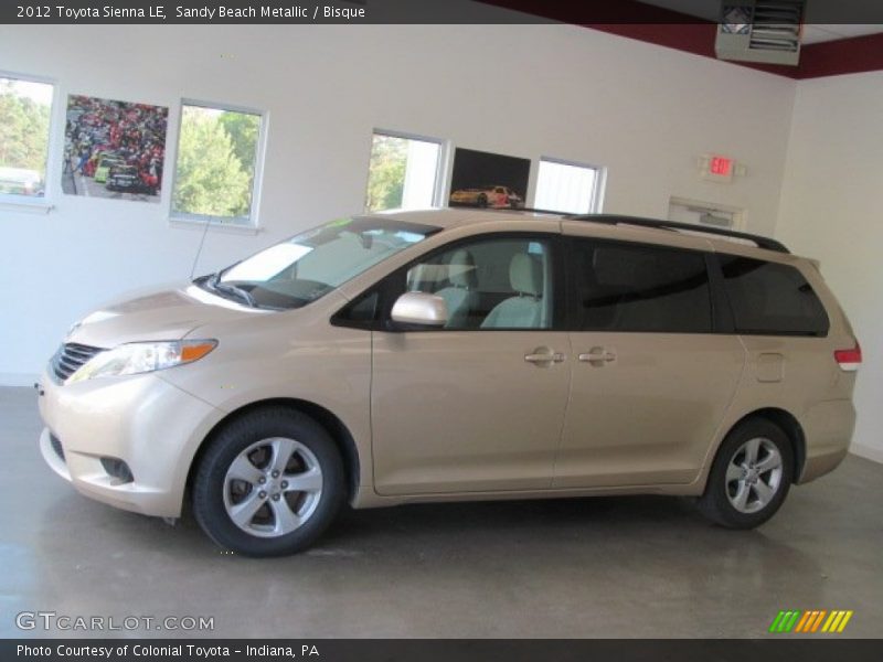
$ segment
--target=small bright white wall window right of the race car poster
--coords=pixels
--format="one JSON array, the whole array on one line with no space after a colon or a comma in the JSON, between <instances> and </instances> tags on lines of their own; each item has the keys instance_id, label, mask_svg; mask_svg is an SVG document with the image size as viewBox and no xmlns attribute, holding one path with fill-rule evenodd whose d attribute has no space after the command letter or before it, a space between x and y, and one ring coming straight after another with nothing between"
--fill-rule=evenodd
<instances>
[{"instance_id":1,"label":"small bright white wall window right of the race car poster","mask_svg":"<svg viewBox=\"0 0 883 662\"><path fill-rule=\"evenodd\" d=\"M599 212L603 179L600 168L544 157L540 159L533 206L566 214Z\"/></svg>"}]
</instances>

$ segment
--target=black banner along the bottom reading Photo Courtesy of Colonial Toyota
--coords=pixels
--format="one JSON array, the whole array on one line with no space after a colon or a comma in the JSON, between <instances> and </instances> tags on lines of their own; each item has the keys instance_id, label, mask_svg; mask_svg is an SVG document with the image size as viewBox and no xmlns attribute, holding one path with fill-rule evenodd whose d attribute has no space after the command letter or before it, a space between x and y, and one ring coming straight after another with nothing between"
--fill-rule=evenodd
<instances>
[{"instance_id":1,"label":"black banner along the bottom reading Photo Courtesy of Colonial Toyota","mask_svg":"<svg viewBox=\"0 0 883 662\"><path fill-rule=\"evenodd\" d=\"M834 636L836 637L836 636ZM0 660L39 662L877 662L883 640L3 640Z\"/></svg>"}]
</instances>

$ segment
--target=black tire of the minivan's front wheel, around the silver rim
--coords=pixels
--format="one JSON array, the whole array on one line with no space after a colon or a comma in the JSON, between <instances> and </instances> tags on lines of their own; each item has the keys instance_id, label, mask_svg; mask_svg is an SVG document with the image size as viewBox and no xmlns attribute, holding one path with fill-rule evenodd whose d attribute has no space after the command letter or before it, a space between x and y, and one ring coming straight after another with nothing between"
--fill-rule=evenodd
<instances>
[{"instance_id":1,"label":"black tire of the minivan's front wheel, around the silver rim","mask_svg":"<svg viewBox=\"0 0 883 662\"><path fill-rule=\"evenodd\" d=\"M234 460L240 459L241 453L244 455L246 449L263 440L275 438L295 440L299 448L306 448L306 450L299 452L305 453L305 457L309 456L311 463L318 463L321 488L315 496L315 502L311 503L310 514L306 516L302 523L289 533L278 535L266 533L262 537L262 535L249 533L234 523L227 512L227 501L233 499L228 492L231 488L227 484L227 471ZM248 457L254 458L255 452L258 455L272 455L272 447L269 445L260 446L257 451L252 451ZM269 459L270 455L262 457ZM291 460L295 457L295 455L291 455ZM269 469L272 467L269 463L266 467L266 473L263 474L262 480L268 481L270 480ZM255 468L254 465L252 465L252 468L255 471L265 471L263 468ZM284 469L284 476L279 477L278 480L283 480L288 476L287 471L287 468ZM291 476L294 479L297 474ZM252 495L252 490L255 489L260 489L260 493L266 494L263 490L272 490L269 484L266 483L264 488L258 488L256 482L252 485L247 481L240 481L236 487L247 485L245 488L247 490L245 498L247 498ZM279 483L274 484L279 487ZM236 418L212 439L211 445L200 459L193 480L193 514L203 531L225 549L231 549L244 556L284 556L309 547L325 532L344 502L344 485L343 462L337 446L326 429L316 420L299 412L286 407L266 407L248 412ZM281 483L281 487L285 488L286 483ZM265 496L265 505L262 506L265 510L258 511L255 514L255 519L265 516L268 522L273 523L274 513L278 512L274 509L279 508L281 504L288 504L291 498L307 499L310 495L307 492L302 494L298 492L283 493L281 503L279 499L274 496L276 504L270 503L269 498ZM294 510L295 506L289 508L289 511ZM248 526L253 526L255 520L251 520L251 522L247 524Z\"/></svg>"}]
</instances>

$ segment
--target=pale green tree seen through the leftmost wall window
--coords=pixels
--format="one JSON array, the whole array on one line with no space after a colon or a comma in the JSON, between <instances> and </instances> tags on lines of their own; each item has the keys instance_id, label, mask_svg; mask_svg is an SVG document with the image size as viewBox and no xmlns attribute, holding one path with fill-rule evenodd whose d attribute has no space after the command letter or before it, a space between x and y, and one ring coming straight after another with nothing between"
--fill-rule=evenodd
<instances>
[{"instance_id":1,"label":"pale green tree seen through the leftmost wall window","mask_svg":"<svg viewBox=\"0 0 883 662\"><path fill-rule=\"evenodd\" d=\"M19 94L11 81L0 78L0 167L44 174L49 122L47 105Z\"/></svg>"}]
</instances>

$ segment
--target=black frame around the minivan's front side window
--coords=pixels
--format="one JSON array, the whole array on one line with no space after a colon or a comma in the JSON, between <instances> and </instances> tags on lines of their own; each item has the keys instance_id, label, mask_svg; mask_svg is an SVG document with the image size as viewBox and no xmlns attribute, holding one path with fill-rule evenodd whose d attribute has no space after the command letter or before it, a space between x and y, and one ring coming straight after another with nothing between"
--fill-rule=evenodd
<instances>
[{"instance_id":1,"label":"black frame around the minivan's front side window","mask_svg":"<svg viewBox=\"0 0 883 662\"><path fill-rule=\"evenodd\" d=\"M552 324L547 329L521 329L521 328L474 328L474 329L445 329L439 327L424 327L422 324L402 324L394 322L392 319L392 309L398 297L405 293L407 288L407 273L417 264L432 259L437 255L456 250L462 246L470 244L483 243L493 239L521 239L521 241L536 241L544 242L550 248L550 256L552 258ZM442 333L471 333L471 332L528 332L528 333L555 333L568 331L567 319L567 301L568 301L568 278L565 269L565 247L563 237L560 233L554 231L536 232L536 231L503 231L503 232L485 232L479 234L469 235L447 242L442 246L430 248L409 260L407 264L398 267L393 273L387 274L377 282L365 288L358 296L353 297L351 301L342 306L331 317L331 324L336 327L348 327L352 329L361 329L368 331L381 331L384 333L426 333L426 332L442 332ZM345 314L351 308L355 307L364 298L370 297L374 291L377 291L380 297L374 310L374 319L369 322L357 322L345 319Z\"/></svg>"}]
</instances>

